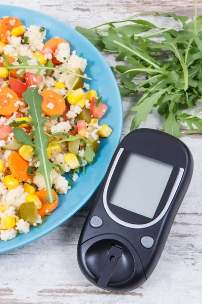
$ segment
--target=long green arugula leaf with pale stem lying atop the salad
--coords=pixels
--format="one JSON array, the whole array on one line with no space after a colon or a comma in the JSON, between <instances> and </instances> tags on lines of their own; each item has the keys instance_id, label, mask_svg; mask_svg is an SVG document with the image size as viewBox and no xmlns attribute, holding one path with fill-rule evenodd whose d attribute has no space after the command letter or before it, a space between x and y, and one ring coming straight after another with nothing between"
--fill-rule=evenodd
<instances>
[{"instance_id":1,"label":"long green arugula leaf with pale stem lying atop the salad","mask_svg":"<svg viewBox=\"0 0 202 304\"><path fill-rule=\"evenodd\" d=\"M56 199L53 196L52 192L52 184L51 184L51 170L54 167L59 167L61 172L64 173L64 169L57 163L52 163L49 161L46 153L46 149L49 142L49 136L45 134L43 131L43 124L48 120L46 117L41 116L42 107L41 102L43 97L38 93L38 88L28 88L25 93L23 93L23 98L29 105L28 113L32 118L32 123L28 123L25 121L21 122L13 122L10 126L19 126L21 124L29 124L34 127L32 128L32 134L34 135L34 140L32 142L31 137L25 133L23 129L20 128L13 128L13 133L15 134L16 140L19 142L23 142L24 144L33 146L33 153L38 155L40 160L40 166L37 170L33 173L32 168L28 168L28 173L33 175L41 173L44 177L46 190L47 190L47 198L46 201L49 203L54 202ZM54 116L51 119L56 119L58 116Z\"/></svg>"}]
</instances>

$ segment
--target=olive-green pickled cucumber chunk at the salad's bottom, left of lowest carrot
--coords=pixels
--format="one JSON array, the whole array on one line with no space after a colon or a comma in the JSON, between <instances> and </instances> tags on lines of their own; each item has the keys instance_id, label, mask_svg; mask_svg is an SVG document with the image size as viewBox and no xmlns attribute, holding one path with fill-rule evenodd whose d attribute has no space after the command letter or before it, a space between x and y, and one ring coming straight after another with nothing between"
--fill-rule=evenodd
<instances>
[{"instance_id":1,"label":"olive-green pickled cucumber chunk at the salad's bottom, left of lowest carrot","mask_svg":"<svg viewBox=\"0 0 202 304\"><path fill-rule=\"evenodd\" d=\"M19 217L27 221L30 225L36 223L38 218L36 204L34 202L22 203L19 209Z\"/></svg>"}]
</instances>

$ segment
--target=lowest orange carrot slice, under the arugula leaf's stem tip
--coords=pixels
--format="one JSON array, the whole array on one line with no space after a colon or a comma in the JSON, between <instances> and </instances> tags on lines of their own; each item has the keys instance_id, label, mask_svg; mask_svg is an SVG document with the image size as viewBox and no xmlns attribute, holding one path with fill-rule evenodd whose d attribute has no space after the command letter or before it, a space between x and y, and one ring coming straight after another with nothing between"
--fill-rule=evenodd
<instances>
[{"instance_id":1,"label":"lowest orange carrot slice, under the arugula leaf's stem tip","mask_svg":"<svg viewBox=\"0 0 202 304\"><path fill-rule=\"evenodd\" d=\"M35 192L35 195L39 198L39 200L41 201L41 204L42 204L42 207L40 209L38 209L38 214L40 216L47 215L49 212L52 212L58 206L59 198L58 198L56 192L54 191L54 189L52 189L52 192L53 192L54 198L56 199L56 201L53 203L48 203L47 201L45 201L45 199L47 198L46 190L45 191L39 190L39 191ZM45 212L45 211L47 211L47 212Z\"/></svg>"}]
</instances>

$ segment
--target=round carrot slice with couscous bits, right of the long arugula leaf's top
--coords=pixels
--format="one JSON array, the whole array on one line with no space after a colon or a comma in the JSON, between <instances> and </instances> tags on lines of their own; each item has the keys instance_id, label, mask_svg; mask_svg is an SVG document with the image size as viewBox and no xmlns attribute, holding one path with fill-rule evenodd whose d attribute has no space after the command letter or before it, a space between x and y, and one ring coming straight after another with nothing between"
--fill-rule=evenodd
<instances>
[{"instance_id":1,"label":"round carrot slice with couscous bits, right of the long arugula leaf's top","mask_svg":"<svg viewBox=\"0 0 202 304\"><path fill-rule=\"evenodd\" d=\"M40 93L43 96L41 103L43 113L49 116L56 114L62 115L65 110L65 99L58 93L52 90L45 90Z\"/></svg>"}]
</instances>

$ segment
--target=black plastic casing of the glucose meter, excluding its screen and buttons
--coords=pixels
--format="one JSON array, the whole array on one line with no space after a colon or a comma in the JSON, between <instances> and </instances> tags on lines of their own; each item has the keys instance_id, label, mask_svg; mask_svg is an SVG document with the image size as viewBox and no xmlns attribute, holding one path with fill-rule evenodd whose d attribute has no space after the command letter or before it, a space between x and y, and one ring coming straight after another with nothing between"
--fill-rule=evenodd
<instances>
[{"instance_id":1,"label":"black plastic casing of the glucose meter, excluding its screen and buttons","mask_svg":"<svg viewBox=\"0 0 202 304\"><path fill-rule=\"evenodd\" d=\"M108 215L103 204L104 187L121 147L162 162L165 162L165 156L168 156L168 163L184 169L180 184L166 214L156 224L143 229L132 229L115 222ZM115 151L78 242L79 267L91 283L106 290L123 292L137 288L148 279L162 254L172 223L189 186L192 172L192 155L188 147L179 139L152 129L138 129L126 135ZM99 228L93 228L90 225L90 219L94 215L103 219L103 225ZM152 248L142 246L140 240L143 236L154 239ZM111 254L111 246L115 246L113 247L115 251L122 248L122 253L120 251L122 257L118 259L115 268L112 267L112 273L109 274L110 267L106 266L106 259ZM109 268L108 273L106 267ZM104 271L106 282L105 276L99 280ZM102 284L99 284L101 281Z\"/></svg>"}]
</instances>

